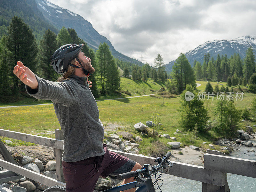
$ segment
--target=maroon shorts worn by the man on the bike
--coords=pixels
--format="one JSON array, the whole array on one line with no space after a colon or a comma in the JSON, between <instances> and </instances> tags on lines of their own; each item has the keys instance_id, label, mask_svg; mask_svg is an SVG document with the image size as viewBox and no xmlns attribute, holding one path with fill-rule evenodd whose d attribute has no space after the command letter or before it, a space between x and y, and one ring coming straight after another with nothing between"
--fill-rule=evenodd
<instances>
[{"instance_id":1,"label":"maroon shorts worn by the man on the bike","mask_svg":"<svg viewBox=\"0 0 256 192\"><path fill-rule=\"evenodd\" d=\"M103 145L103 148L106 153L102 156L71 163L62 161L67 192L92 192L99 176L105 178L117 169L120 171L120 167L129 161L127 157L108 151L107 145ZM124 172L131 171L134 164L130 164Z\"/></svg>"}]
</instances>

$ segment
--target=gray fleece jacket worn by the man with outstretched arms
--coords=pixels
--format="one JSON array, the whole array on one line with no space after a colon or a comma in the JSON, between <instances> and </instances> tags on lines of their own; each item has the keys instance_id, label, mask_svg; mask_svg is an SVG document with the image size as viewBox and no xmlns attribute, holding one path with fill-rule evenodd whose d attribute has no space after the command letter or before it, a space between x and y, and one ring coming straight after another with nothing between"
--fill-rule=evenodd
<instances>
[{"instance_id":1,"label":"gray fleece jacket worn by the man with outstretched arms","mask_svg":"<svg viewBox=\"0 0 256 192\"><path fill-rule=\"evenodd\" d=\"M105 154L102 146L104 130L99 109L85 77L52 82L36 76L38 90L26 85L29 95L52 100L55 114L64 134L62 161L75 162Z\"/></svg>"}]
</instances>

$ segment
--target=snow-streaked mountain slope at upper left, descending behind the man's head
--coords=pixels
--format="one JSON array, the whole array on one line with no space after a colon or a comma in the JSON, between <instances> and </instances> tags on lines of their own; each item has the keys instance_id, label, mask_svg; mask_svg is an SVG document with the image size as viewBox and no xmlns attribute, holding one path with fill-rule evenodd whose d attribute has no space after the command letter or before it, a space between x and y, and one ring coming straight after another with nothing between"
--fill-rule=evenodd
<instances>
[{"instance_id":1,"label":"snow-streaked mountain slope at upper left, descending behind the man's head","mask_svg":"<svg viewBox=\"0 0 256 192\"><path fill-rule=\"evenodd\" d=\"M41 11L49 23L54 25L56 28L60 29L63 26L65 28L74 28L77 35L94 50L98 49L100 43L105 42L109 45L109 49L112 51L114 57L127 62L143 65L138 60L132 59L120 52L117 52L111 42L106 37L100 35L92 27L92 24L85 20L82 16L52 4L47 0L35 0L35 2L38 10Z\"/></svg>"}]
</instances>

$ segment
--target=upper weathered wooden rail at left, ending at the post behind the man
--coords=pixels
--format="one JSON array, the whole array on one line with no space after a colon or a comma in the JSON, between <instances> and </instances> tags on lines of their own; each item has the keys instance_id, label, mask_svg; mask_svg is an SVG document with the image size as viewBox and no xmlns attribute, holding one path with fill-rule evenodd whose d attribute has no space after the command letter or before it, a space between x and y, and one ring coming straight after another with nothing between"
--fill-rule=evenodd
<instances>
[{"instance_id":1,"label":"upper weathered wooden rail at left, ending at the post behind the man","mask_svg":"<svg viewBox=\"0 0 256 192\"><path fill-rule=\"evenodd\" d=\"M56 140L48 137L42 137L42 136L9 131L4 129L0 129L0 135L3 137L27 141L30 143L36 143L39 145L44 145L52 148L63 149L63 140Z\"/></svg>"}]
</instances>

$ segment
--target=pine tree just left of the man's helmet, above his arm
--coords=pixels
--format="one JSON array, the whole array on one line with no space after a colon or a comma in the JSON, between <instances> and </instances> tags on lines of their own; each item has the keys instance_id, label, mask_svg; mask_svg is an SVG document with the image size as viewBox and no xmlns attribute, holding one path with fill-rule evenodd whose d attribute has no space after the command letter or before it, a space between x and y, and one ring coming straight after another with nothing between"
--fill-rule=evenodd
<instances>
[{"instance_id":1,"label":"pine tree just left of the man's helmet, above his arm","mask_svg":"<svg viewBox=\"0 0 256 192\"><path fill-rule=\"evenodd\" d=\"M42 69L43 78L53 81L57 78L58 74L50 66L50 58L52 54L58 49L57 35L50 29L45 31L43 39L40 41L40 68Z\"/></svg>"}]
</instances>

